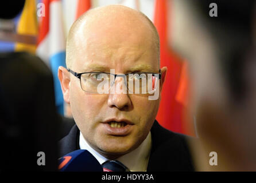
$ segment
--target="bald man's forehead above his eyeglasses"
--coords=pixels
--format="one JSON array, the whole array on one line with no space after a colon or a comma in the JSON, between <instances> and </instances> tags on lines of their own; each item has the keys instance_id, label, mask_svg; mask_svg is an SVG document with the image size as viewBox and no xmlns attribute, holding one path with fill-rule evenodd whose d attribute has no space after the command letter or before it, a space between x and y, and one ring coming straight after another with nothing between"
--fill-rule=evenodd
<instances>
[{"instance_id":1,"label":"bald man's forehead above his eyeglasses","mask_svg":"<svg viewBox=\"0 0 256 183\"><path fill-rule=\"evenodd\" d=\"M96 65L129 70L139 65L148 70L149 66L158 70L157 47L148 23L110 22L87 22L87 25L77 30L73 39L73 66L83 70Z\"/></svg>"}]
</instances>

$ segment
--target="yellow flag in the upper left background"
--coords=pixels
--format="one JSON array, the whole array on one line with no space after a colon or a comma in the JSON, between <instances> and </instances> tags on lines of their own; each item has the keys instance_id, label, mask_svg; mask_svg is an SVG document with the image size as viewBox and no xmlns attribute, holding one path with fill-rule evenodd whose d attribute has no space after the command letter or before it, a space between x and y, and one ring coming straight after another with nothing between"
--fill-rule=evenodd
<instances>
[{"instance_id":1,"label":"yellow flag in the upper left background","mask_svg":"<svg viewBox=\"0 0 256 183\"><path fill-rule=\"evenodd\" d=\"M35 0L26 0L20 21L17 26L17 34L30 35L36 37L38 34L36 2ZM36 52L36 44L16 43L15 51Z\"/></svg>"}]
</instances>

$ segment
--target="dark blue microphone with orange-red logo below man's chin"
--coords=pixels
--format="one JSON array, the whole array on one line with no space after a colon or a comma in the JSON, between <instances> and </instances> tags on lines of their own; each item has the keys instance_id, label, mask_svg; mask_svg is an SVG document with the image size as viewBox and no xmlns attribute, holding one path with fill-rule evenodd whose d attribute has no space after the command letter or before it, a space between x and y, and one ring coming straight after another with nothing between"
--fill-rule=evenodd
<instances>
[{"instance_id":1,"label":"dark blue microphone with orange-red logo below man's chin","mask_svg":"<svg viewBox=\"0 0 256 183\"><path fill-rule=\"evenodd\" d=\"M103 168L88 150L75 150L59 158L60 172L103 172Z\"/></svg>"}]
</instances>

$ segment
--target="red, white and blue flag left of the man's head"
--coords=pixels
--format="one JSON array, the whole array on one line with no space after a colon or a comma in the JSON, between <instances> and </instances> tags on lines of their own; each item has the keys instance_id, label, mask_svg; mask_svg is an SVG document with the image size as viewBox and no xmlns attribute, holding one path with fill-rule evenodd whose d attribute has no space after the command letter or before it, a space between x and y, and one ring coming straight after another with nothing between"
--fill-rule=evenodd
<instances>
[{"instance_id":1,"label":"red, white and blue flag left of the man's head","mask_svg":"<svg viewBox=\"0 0 256 183\"><path fill-rule=\"evenodd\" d=\"M65 34L60 0L44 0L45 17L41 17L37 55L51 68L55 85L55 102L60 114L64 113L63 94L57 76L59 66L65 67Z\"/></svg>"}]
</instances>

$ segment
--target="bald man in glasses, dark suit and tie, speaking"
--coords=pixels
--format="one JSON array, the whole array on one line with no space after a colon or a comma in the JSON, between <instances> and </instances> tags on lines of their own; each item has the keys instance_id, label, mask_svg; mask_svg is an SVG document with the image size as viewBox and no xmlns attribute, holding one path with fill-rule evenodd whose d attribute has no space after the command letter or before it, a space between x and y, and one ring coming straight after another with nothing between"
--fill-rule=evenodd
<instances>
[{"instance_id":1,"label":"bald man in glasses, dark suit and tie, speaking","mask_svg":"<svg viewBox=\"0 0 256 183\"><path fill-rule=\"evenodd\" d=\"M136 93L125 82L128 74L137 79L141 75L136 73L154 73L158 77L148 81L156 79L161 92L167 68L160 69L159 51L153 23L125 6L92 9L73 23L67 38L68 69L59 67L59 79L76 125L60 141L60 156L87 149L103 167L116 160L129 171L193 170L186 137L155 120L161 94L150 100L148 90ZM114 83L107 80L111 74L105 74L111 69L117 74ZM95 81L107 80L108 93L99 93L92 75ZM123 90L127 84L129 92Z\"/></svg>"}]
</instances>

